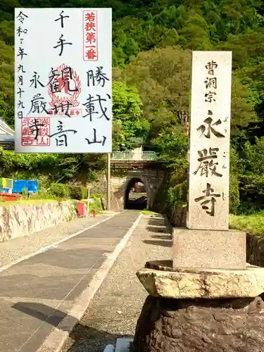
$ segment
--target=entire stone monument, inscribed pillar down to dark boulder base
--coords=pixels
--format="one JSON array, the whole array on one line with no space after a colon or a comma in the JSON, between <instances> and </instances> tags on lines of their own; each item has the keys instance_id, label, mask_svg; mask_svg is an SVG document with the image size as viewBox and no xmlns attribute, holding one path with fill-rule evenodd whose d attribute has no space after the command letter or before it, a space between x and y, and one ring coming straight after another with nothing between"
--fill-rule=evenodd
<instances>
[{"instance_id":1,"label":"entire stone monument, inscribed pillar down to dark boulder base","mask_svg":"<svg viewBox=\"0 0 264 352\"><path fill-rule=\"evenodd\" d=\"M172 260L137 272L149 296L134 352L264 351L264 269L228 226L231 71L231 52L194 51L187 227Z\"/></svg>"}]
</instances>

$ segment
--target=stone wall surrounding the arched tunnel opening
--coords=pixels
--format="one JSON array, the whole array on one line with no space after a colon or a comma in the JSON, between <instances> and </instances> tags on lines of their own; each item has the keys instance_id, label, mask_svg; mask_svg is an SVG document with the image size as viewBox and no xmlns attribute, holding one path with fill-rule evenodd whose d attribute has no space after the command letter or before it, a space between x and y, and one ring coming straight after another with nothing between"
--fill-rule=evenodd
<instances>
[{"instance_id":1,"label":"stone wall surrounding the arched tunnel opening","mask_svg":"<svg viewBox=\"0 0 264 352\"><path fill-rule=\"evenodd\" d=\"M147 206L152 207L155 201L156 192L161 183L163 182L164 172L162 170L132 170L127 171L125 175L113 175L111 177L111 187L113 190L113 195L116 201L120 204L120 207L124 207L125 203L125 192L127 190L130 181L135 178L141 180L146 187L146 196L148 199Z\"/></svg>"}]
</instances>

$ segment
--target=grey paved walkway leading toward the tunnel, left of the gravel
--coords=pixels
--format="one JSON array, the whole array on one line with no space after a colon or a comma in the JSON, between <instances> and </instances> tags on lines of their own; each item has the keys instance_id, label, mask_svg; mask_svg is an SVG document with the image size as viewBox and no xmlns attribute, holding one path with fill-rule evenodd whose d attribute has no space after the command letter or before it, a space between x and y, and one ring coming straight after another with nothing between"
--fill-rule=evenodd
<instances>
[{"instance_id":1,"label":"grey paved walkway leading toward the tunnel, left of the gravel","mask_svg":"<svg viewBox=\"0 0 264 352\"><path fill-rule=\"evenodd\" d=\"M115 215L2 271L0 351L37 351L138 216Z\"/></svg>"}]
</instances>

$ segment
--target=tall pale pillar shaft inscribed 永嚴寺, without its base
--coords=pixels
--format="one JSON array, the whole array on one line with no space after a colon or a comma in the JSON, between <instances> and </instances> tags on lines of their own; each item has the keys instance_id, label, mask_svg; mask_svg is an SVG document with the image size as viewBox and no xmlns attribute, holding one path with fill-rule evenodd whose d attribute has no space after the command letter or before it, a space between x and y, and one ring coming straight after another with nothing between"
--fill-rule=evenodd
<instances>
[{"instance_id":1,"label":"tall pale pillar shaft inscribed \u6c38\u56b4\u5bfa, without its base","mask_svg":"<svg viewBox=\"0 0 264 352\"><path fill-rule=\"evenodd\" d=\"M192 229L227 230L231 65L223 52L194 52L189 206ZM208 59L209 58L209 59ZM230 71L231 73L231 71ZM224 114L224 115L223 115Z\"/></svg>"}]
</instances>

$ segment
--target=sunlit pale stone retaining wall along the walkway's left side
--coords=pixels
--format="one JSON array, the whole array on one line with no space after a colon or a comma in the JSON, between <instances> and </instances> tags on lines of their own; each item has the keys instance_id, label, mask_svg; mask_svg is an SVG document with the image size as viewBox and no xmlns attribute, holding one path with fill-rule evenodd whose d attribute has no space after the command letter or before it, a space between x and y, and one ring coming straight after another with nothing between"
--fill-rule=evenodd
<instances>
[{"instance_id":1,"label":"sunlit pale stone retaining wall along the walkway's left side","mask_svg":"<svg viewBox=\"0 0 264 352\"><path fill-rule=\"evenodd\" d=\"M0 207L0 241L44 230L77 217L73 201Z\"/></svg>"}]
</instances>

